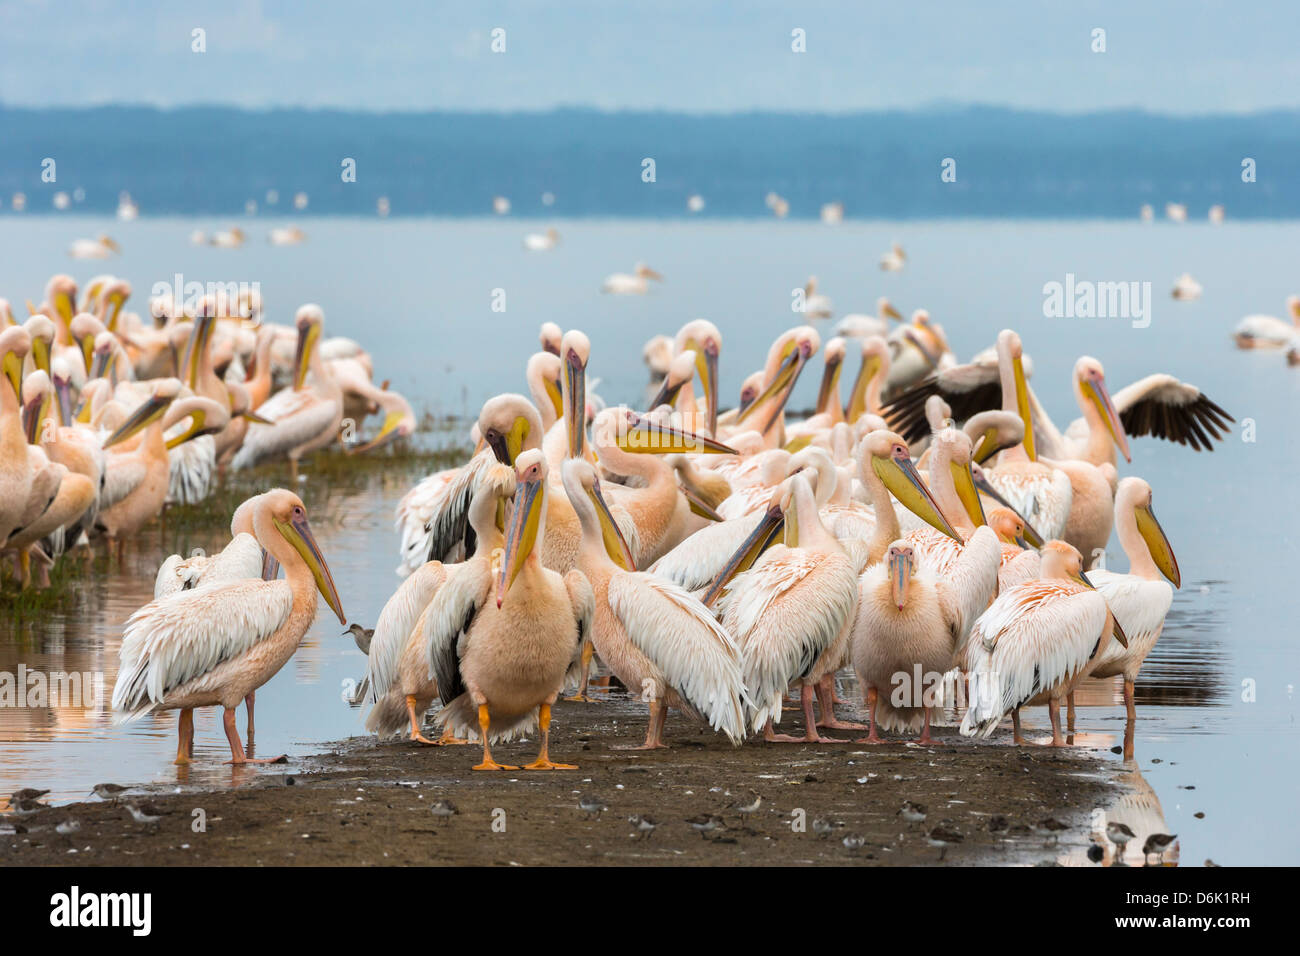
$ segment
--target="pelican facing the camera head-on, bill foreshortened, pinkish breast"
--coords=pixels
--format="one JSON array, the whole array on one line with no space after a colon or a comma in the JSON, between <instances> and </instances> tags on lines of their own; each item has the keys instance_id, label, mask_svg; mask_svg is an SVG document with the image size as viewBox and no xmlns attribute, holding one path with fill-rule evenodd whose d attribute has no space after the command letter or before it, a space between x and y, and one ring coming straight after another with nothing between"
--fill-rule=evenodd
<instances>
[{"instance_id":1,"label":"pelican facing the camera head-on, bill foreshortened, pinkish breast","mask_svg":"<svg viewBox=\"0 0 1300 956\"><path fill-rule=\"evenodd\" d=\"M997 585L1000 551L993 533L982 528L952 572L937 578L918 567L913 546L900 538L883 562L862 575L850 648L870 717L868 734L858 743L881 743L878 726L915 731L918 723L918 743L932 743L930 719L939 688L927 683L928 676L916 685L916 676L937 680L950 670L953 653L974 623L967 609L983 609Z\"/></svg>"}]
</instances>

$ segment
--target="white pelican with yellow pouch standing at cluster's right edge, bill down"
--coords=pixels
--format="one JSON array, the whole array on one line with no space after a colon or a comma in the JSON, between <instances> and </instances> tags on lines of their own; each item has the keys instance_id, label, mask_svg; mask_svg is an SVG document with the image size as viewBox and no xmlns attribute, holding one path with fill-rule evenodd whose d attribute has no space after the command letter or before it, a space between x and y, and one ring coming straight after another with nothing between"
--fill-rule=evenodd
<instances>
[{"instance_id":1,"label":"white pelican with yellow pouch standing at cluster's right edge, bill down","mask_svg":"<svg viewBox=\"0 0 1300 956\"><path fill-rule=\"evenodd\" d=\"M1123 675L1124 708L1130 721L1136 717L1134 682L1165 627L1165 615L1174 601L1174 588L1183 584L1178 558L1150 510L1150 485L1140 477L1119 481L1115 492L1115 535L1128 557L1128 574L1104 570L1088 572L1128 636L1127 648L1119 644L1106 648L1092 669L1092 676ZM1161 576L1167 578L1174 588L1161 580Z\"/></svg>"}]
</instances>

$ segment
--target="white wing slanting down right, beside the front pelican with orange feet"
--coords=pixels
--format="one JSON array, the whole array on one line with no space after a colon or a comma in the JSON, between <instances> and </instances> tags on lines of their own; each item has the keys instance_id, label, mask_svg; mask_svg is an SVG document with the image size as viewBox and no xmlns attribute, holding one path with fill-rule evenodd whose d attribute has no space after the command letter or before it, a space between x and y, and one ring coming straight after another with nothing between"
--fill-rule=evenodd
<instances>
[{"instance_id":1,"label":"white wing slanting down right, beside the front pelican with orange feet","mask_svg":"<svg viewBox=\"0 0 1300 956\"><path fill-rule=\"evenodd\" d=\"M610 607L664 679L733 744L745 736L740 650L698 600L653 575L618 574Z\"/></svg>"}]
</instances>

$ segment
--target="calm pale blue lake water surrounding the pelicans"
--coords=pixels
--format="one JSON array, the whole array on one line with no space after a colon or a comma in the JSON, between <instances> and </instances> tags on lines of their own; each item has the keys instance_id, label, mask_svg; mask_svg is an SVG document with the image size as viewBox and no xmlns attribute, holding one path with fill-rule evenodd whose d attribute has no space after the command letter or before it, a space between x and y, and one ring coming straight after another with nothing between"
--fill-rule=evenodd
<instances>
[{"instance_id":1,"label":"calm pale blue lake water surrounding the pelicans","mask_svg":"<svg viewBox=\"0 0 1300 956\"><path fill-rule=\"evenodd\" d=\"M708 317L723 333L722 393L731 402L771 339L798 320L792 290L814 273L837 315L870 312L881 294L904 312L928 308L963 359L998 329L1014 326L1034 358L1035 388L1058 424L1076 414L1069 375L1084 352L1105 363L1112 392L1156 371L1195 382L1238 419L1238 431L1213 454L1136 440L1134 463L1121 468L1154 488L1156 511L1183 574L1165 633L1138 683L1136 769L1158 801L1164 829L1179 835L1183 864L1300 860L1300 829L1291 817L1300 790L1296 538L1287 505L1300 464L1290 419L1300 369L1288 369L1278 352L1240 352L1228 338L1240 316L1279 315L1283 299L1300 291L1300 225L569 221L556 250L528 254L523 235L546 222L318 219L307 222L308 241L298 247L269 246L265 230L273 224L266 220L244 224L250 241L238 250L190 245L192 229L222 225L0 219L0 295L25 313L22 300L39 300L56 271L78 281L104 271L124 276L140 310L150 289L170 284L176 273L186 281L257 282L272 319L287 321L298 304L320 303L328 333L361 341L374 356L377 378L390 378L417 408L441 412L473 412L497 392L524 390L524 362L546 320L584 329L601 393L636 402L646 377L646 338ZM121 256L90 264L68 259L74 238L103 232L122 246ZM894 239L907 250L907 267L883 273L876 261ZM599 293L603 276L630 271L638 260L666 277L651 294ZM1183 272L1205 287L1197 302L1169 297ZM1069 273L1149 281L1150 325L1044 317L1044 284L1065 282ZM491 308L500 295L495 290L504 293L503 312ZM810 372L801 381L794 406L814 403L816 377ZM1253 434L1245 431L1251 423ZM317 480L309 467L306 473ZM350 619L373 624L396 585L391 516L407 484L376 473L354 490L332 493L330 520L318 537ZM20 663L100 670L110 693L121 624L150 598L161 557L220 544L212 532L146 532L124 568L84 589L83 607L21 627L0 620L0 671L16 672ZM1114 540L1109 563L1126 567ZM322 613L294 661L259 692L260 753L309 753L320 741L361 732L360 711L341 693L344 682L361 675L364 661L338 632ZM1118 685L1089 687L1082 702L1080 739L1119 744ZM1041 732L1046 714L1032 713L1027 723ZM228 754L217 713L198 715L198 758L179 782L229 783L256 773L222 766ZM105 779L173 783L173 756L170 717L120 728L107 714L83 709L0 708L0 793L43 786L72 800Z\"/></svg>"}]
</instances>

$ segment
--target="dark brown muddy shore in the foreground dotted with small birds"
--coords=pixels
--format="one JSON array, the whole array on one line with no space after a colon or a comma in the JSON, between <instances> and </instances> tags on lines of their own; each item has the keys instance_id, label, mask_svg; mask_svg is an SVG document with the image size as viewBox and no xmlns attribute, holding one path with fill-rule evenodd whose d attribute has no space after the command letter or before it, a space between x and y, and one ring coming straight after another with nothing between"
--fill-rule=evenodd
<instances>
[{"instance_id":1,"label":"dark brown muddy shore in the foreground dotted with small birds","mask_svg":"<svg viewBox=\"0 0 1300 956\"><path fill-rule=\"evenodd\" d=\"M785 732L802 726L797 717L789 711ZM841 719L858 717L841 705ZM942 851L945 864L1052 865L1086 861L1091 814L1123 792L1119 767L1101 752L1014 747L1009 731L974 743L937 727L928 747L733 748L675 714L671 749L619 749L640 743L644 730L645 709L634 700L562 702L552 753L580 769L550 773L473 773L476 744L351 737L283 765L233 767L228 788L155 784L133 788L118 805L0 814L0 865L933 865L940 848L927 832L937 825L962 834ZM523 765L536 747L500 744L493 756ZM751 816L728 809L754 792L763 803ZM608 809L584 814L580 793ZM438 800L458 813L434 816ZM127 801L165 814L136 823ZM926 821L905 822L904 801L923 804ZM650 816L654 831L636 835L630 814ZM711 835L688 823L715 814L722 827ZM996 817L1006 826L993 832ZM1039 829L1048 817L1065 829ZM815 819L836 826L819 835ZM79 830L60 834L66 821ZM23 832L9 832L14 826ZM861 834L864 844L845 848L845 834Z\"/></svg>"}]
</instances>

